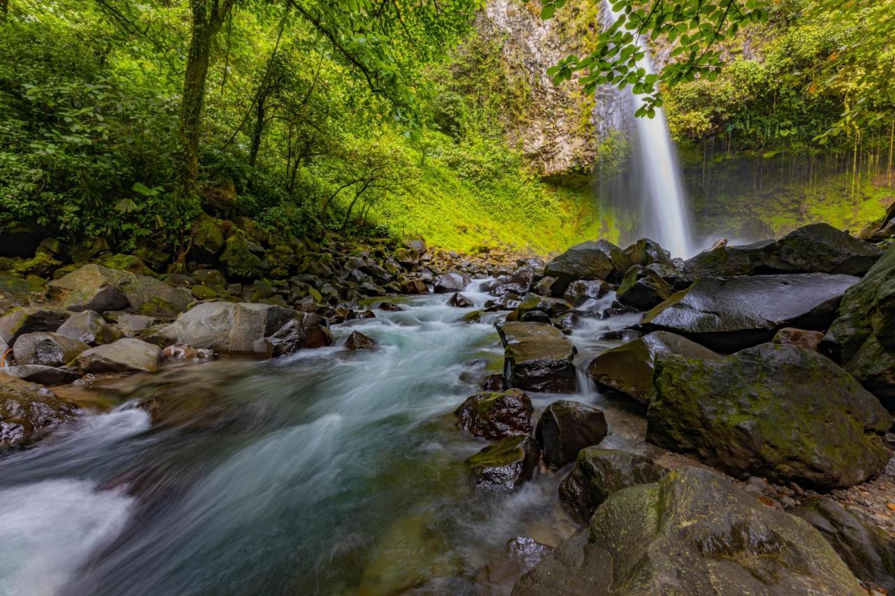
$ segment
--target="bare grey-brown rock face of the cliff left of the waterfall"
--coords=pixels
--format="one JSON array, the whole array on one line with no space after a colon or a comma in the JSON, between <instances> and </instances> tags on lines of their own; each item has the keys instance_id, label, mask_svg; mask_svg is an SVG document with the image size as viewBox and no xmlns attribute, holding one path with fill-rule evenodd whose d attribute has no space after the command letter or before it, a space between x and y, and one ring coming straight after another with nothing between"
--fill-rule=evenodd
<instances>
[{"instance_id":1,"label":"bare grey-brown rock face of the cliff left of the waterfall","mask_svg":"<svg viewBox=\"0 0 895 596\"><path fill-rule=\"evenodd\" d=\"M593 164L593 98L584 95L578 81L554 85L547 69L569 54L587 51L597 22L594 4L575 0L543 21L539 2L490 0L477 23L483 37L501 44L516 84L527 88L523 113L505 115L505 126L510 143L541 175L589 170Z\"/></svg>"}]
</instances>

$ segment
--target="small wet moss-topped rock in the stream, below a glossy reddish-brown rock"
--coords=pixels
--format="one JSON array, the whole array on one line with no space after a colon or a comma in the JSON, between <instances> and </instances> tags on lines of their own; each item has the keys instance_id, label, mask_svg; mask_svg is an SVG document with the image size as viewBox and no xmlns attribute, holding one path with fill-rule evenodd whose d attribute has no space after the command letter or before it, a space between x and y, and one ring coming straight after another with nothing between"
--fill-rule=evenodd
<instances>
[{"instance_id":1,"label":"small wet moss-topped rock in the stream, below a glossy reddish-brown rock","mask_svg":"<svg viewBox=\"0 0 895 596\"><path fill-rule=\"evenodd\" d=\"M538 444L528 435L501 438L466 460L475 485L487 490L513 490L529 480L538 465Z\"/></svg>"}]
</instances>

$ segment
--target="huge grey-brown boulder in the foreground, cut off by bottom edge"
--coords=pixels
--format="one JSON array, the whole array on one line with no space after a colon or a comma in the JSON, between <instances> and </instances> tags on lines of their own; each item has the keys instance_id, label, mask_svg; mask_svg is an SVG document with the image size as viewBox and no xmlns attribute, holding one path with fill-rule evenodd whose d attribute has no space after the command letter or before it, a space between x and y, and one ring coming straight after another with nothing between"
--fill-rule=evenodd
<instances>
[{"instance_id":1,"label":"huge grey-brown boulder in the foreground, cut off by bottom edge","mask_svg":"<svg viewBox=\"0 0 895 596\"><path fill-rule=\"evenodd\" d=\"M804 520L717 473L680 468L619 490L513 596L865 594Z\"/></svg>"}]
</instances>

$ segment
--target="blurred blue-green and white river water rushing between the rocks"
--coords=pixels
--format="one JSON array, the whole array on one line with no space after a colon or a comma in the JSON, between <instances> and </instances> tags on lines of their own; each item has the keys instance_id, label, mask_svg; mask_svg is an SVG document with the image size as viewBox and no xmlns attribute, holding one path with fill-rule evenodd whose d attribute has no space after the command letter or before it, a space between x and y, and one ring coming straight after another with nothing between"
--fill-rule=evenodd
<instances>
[{"instance_id":1,"label":"blurred blue-green and white river water rushing between the rocks","mask_svg":"<svg viewBox=\"0 0 895 596\"><path fill-rule=\"evenodd\" d=\"M117 405L0 458L0 594L508 593L507 540L574 531L563 473L473 490L464 460L486 443L452 411L501 369L498 315L465 324L472 309L445 302L334 329L362 330L374 352L183 365L85 391ZM584 319L579 366L611 345L599 330L631 322ZM565 397L603 408L617 434L643 432L579 378ZM535 410L558 397L533 395Z\"/></svg>"}]
</instances>

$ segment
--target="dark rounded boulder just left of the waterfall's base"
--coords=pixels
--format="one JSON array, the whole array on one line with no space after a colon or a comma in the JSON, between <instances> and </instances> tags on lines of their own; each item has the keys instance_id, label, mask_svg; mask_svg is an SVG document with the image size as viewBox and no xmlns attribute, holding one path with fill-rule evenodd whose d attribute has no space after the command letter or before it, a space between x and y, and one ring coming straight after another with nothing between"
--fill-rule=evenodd
<instances>
[{"instance_id":1,"label":"dark rounded boulder just left of the waterfall's base","mask_svg":"<svg viewBox=\"0 0 895 596\"><path fill-rule=\"evenodd\" d=\"M605 240L575 244L544 268L544 275L556 277L552 286L553 295L566 293L568 285L575 280L620 279L630 267L625 253Z\"/></svg>"}]
</instances>

